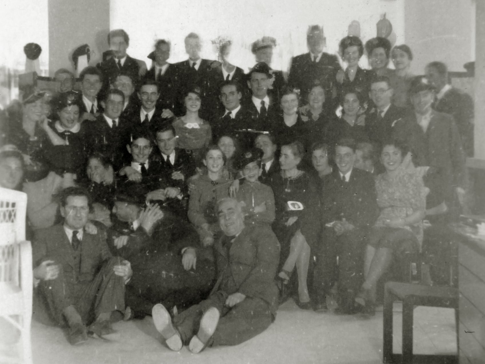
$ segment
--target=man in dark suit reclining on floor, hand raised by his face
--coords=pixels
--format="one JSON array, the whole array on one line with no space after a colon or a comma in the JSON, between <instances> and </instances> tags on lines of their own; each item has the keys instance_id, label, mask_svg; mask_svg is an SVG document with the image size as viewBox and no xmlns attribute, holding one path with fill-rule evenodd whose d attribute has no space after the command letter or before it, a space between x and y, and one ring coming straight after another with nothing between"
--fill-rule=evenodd
<instances>
[{"instance_id":1,"label":"man in dark suit reclining on floor, hand raised by his face","mask_svg":"<svg viewBox=\"0 0 485 364\"><path fill-rule=\"evenodd\" d=\"M151 314L157 303L183 310L207 298L215 283L211 248L199 250L196 269L182 263L182 248L198 239L194 227L164 207L142 208L144 204L145 199L137 199L128 189L118 191L108 230L112 253L129 260L136 271L126 287L126 319Z\"/></svg>"}]
</instances>

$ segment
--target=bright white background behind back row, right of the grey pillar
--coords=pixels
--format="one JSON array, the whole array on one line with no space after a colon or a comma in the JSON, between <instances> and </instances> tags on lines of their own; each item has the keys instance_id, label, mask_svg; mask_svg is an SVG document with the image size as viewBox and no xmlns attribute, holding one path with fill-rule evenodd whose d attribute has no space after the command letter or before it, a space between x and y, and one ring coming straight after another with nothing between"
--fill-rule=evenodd
<instances>
[{"instance_id":1,"label":"bright white background behind back row, right of the grey pillar","mask_svg":"<svg viewBox=\"0 0 485 364\"><path fill-rule=\"evenodd\" d=\"M136 11L135 11L136 7ZM273 68L287 70L291 56L307 51L310 24L323 25L329 52L338 50L352 20L361 24L361 38L376 35L376 22L387 13L397 43L404 42L404 0L111 0L111 29L123 28L130 36L129 54L147 62L158 38L172 42L169 62L186 59L183 40L190 32L203 38L203 57L217 59L210 40L228 35L233 40L234 64L247 70L254 65L251 43L263 35L284 47L274 52ZM363 60L365 64L366 61Z\"/></svg>"}]
</instances>

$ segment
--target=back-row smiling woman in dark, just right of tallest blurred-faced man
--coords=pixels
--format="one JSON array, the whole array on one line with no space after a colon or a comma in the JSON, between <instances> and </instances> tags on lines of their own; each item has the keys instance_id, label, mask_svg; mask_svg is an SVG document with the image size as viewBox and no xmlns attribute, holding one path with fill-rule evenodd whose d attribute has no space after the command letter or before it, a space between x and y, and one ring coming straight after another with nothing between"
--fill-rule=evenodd
<instances>
[{"instance_id":1,"label":"back-row smiling woman in dark, just right of tallest blurred-faced man","mask_svg":"<svg viewBox=\"0 0 485 364\"><path fill-rule=\"evenodd\" d=\"M359 66L360 57L364 54L362 41L356 36L346 36L339 43L339 52L348 66L345 71L340 70L337 73L337 97L342 97L345 90L352 87L363 95L361 105L364 106L375 74L372 70L362 69Z\"/></svg>"}]
</instances>

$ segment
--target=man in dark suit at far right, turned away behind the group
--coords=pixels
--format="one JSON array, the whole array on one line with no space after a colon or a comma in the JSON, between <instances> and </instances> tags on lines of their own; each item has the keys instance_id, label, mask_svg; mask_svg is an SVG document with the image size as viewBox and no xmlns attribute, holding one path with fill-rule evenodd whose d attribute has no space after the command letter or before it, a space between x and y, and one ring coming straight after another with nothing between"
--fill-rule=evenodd
<instances>
[{"instance_id":1,"label":"man in dark suit at far right, turned away behind the group","mask_svg":"<svg viewBox=\"0 0 485 364\"><path fill-rule=\"evenodd\" d=\"M466 155L473 155L473 99L470 95L448 83L448 67L442 62L431 62L426 68L426 78L435 86L436 99L433 109L453 116Z\"/></svg>"}]
</instances>

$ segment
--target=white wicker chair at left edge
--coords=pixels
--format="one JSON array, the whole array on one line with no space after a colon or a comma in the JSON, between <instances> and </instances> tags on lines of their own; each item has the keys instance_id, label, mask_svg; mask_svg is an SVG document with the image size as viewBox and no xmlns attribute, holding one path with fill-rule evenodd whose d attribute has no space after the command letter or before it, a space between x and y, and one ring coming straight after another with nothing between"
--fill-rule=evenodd
<instances>
[{"instance_id":1,"label":"white wicker chair at left edge","mask_svg":"<svg viewBox=\"0 0 485 364\"><path fill-rule=\"evenodd\" d=\"M32 363L32 247L25 241L26 209L25 193L0 188L0 318L20 333L7 352L0 350L0 363Z\"/></svg>"}]
</instances>

